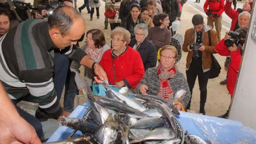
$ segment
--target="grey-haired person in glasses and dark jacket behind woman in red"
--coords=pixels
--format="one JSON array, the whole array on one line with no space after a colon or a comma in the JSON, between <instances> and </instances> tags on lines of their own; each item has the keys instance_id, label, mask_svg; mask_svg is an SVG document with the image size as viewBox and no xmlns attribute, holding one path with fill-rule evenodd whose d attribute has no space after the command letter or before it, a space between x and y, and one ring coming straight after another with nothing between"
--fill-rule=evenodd
<instances>
[{"instance_id":1,"label":"grey-haired person in glasses and dark jacket behind woman in red","mask_svg":"<svg viewBox=\"0 0 256 144\"><path fill-rule=\"evenodd\" d=\"M157 65L157 51L155 45L147 38L148 29L145 24L137 24L134 28L135 38L131 39L130 47L136 49L143 61L144 70Z\"/></svg>"}]
</instances>

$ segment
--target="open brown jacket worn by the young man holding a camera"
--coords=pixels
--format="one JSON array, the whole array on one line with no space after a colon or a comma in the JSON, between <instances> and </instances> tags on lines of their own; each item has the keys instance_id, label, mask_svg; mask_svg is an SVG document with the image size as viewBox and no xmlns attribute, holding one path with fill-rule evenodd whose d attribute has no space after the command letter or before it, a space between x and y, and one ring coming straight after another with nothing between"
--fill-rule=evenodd
<instances>
[{"instance_id":1,"label":"open brown jacket worn by the young man holding a camera","mask_svg":"<svg viewBox=\"0 0 256 144\"><path fill-rule=\"evenodd\" d=\"M208 31L210 30L211 33L211 46L209 46L209 39L208 39ZM211 29L211 26L204 26L204 39L202 40L203 45L205 45L205 51L202 51L202 65L203 65L203 71L206 72L210 70L211 68L211 55L215 54L215 46L218 44L218 38L217 38L217 32ZM194 36L193 36L194 34ZM193 38L193 39L192 39ZM191 40L192 39L192 40ZM194 29L188 29L186 30L185 36L184 36L184 43L182 46L182 49L184 52L188 52L188 45L195 43L195 33ZM187 56L187 62L186 62L186 70L189 69L189 65L191 63L191 59L193 57L193 51L188 53Z\"/></svg>"}]
</instances>

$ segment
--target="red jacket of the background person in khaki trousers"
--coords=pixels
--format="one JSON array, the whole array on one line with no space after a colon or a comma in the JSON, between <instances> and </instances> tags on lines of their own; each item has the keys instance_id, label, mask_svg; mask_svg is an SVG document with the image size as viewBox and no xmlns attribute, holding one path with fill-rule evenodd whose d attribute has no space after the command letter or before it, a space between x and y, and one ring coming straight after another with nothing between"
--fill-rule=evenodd
<instances>
[{"instance_id":1,"label":"red jacket of the background person in khaki trousers","mask_svg":"<svg viewBox=\"0 0 256 144\"><path fill-rule=\"evenodd\" d=\"M209 9L207 9L209 7ZM224 0L206 0L204 4L204 10L210 13L217 13L218 16L224 11Z\"/></svg>"}]
</instances>

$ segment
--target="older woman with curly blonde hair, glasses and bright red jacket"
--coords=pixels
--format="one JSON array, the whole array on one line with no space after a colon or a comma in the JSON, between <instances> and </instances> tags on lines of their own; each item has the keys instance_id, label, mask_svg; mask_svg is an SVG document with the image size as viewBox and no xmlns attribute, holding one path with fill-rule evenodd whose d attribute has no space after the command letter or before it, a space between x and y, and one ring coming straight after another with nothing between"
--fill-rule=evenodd
<instances>
[{"instance_id":1,"label":"older woman with curly blonde hair, glasses and bright red jacket","mask_svg":"<svg viewBox=\"0 0 256 144\"><path fill-rule=\"evenodd\" d=\"M128 46L131 34L124 28L117 27L111 32L113 49L104 52L99 65L106 71L109 84L116 88L128 86L135 89L144 75L141 56Z\"/></svg>"}]
</instances>

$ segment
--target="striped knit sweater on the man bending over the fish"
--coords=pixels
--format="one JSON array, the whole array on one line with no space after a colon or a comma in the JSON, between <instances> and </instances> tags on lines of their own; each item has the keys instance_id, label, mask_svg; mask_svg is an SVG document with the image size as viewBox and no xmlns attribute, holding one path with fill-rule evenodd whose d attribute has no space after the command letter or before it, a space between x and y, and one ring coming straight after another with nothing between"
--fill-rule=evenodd
<instances>
[{"instance_id":1,"label":"striped knit sweater on the man bending over the fish","mask_svg":"<svg viewBox=\"0 0 256 144\"><path fill-rule=\"evenodd\" d=\"M0 79L11 99L29 94L47 113L60 115L53 83L54 48L46 21L20 23L0 39ZM78 63L85 56L72 47L67 53Z\"/></svg>"}]
</instances>

